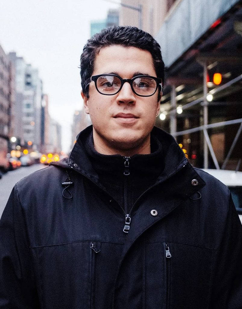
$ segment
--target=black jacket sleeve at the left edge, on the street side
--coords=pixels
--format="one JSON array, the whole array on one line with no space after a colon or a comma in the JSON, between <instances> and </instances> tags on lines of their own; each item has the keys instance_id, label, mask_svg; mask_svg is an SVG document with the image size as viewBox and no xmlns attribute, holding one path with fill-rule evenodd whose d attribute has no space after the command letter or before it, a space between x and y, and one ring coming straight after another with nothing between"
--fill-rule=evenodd
<instances>
[{"instance_id":1,"label":"black jacket sleeve at the left edge, on the street side","mask_svg":"<svg viewBox=\"0 0 242 309\"><path fill-rule=\"evenodd\" d=\"M40 308L16 185L0 220L0 308Z\"/></svg>"}]
</instances>

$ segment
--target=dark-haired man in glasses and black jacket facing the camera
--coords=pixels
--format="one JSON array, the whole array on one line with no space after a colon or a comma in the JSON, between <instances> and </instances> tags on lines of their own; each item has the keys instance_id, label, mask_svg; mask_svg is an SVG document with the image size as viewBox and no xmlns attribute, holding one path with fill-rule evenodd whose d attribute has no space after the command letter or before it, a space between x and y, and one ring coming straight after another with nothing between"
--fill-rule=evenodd
<instances>
[{"instance_id":1,"label":"dark-haired man in glasses and black jacket facing the camera","mask_svg":"<svg viewBox=\"0 0 242 309\"><path fill-rule=\"evenodd\" d=\"M134 27L81 55L93 127L19 181L1 219L0 308L242 308L241 224L226 186L155 128L164 63Z\"/></svg>"}]
</instances>

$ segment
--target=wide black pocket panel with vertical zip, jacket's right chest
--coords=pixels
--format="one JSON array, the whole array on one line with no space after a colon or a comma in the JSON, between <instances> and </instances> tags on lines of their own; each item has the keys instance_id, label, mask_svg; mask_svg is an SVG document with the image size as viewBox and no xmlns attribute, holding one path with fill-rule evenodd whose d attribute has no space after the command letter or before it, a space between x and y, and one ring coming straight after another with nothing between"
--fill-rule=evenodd
<instances>
[{"instance_id":1,"label":"wide black pocket panel with vertical zip, jacket's right chest","mask_svg":"<svg viewBox=\"0 0 242 309\"><path fill-rule=\"evenodd\" d=\"M146 243L145 309L208 308L213 249Z\"/></svg>"}]
</instances>

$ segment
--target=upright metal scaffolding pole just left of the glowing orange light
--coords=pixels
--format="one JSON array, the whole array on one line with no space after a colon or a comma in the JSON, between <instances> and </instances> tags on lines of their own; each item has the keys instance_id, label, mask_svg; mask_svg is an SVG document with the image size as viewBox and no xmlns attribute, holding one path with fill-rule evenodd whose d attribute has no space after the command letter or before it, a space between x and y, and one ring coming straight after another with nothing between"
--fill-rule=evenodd
<instances>
[{"instance_id":1,"label":"upright metal scaffolding pole just left of the glowing orange light","mask_svg":"<svg viewBox=\"0 0 242 309\"><path fill-rule=\"evenodd\" d=\"M207 102L207 63L203 63L203 125L208 125L208 102ZM207 132L207 131L206 131ZM208 144L204 134L203 140L203 167L208 168Z\"/></svg>"}]
</instances>

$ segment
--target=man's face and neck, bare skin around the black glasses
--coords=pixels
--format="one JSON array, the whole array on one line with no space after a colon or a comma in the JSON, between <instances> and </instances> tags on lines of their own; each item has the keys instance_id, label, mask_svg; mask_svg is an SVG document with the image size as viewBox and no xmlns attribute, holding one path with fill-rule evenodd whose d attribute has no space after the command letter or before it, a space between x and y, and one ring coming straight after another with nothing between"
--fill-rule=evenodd
<instances>
[{"instance_id":1,"label":"man's face and neck, bare skin around the black glasses","mask_svg":"<svg viewBox=\"0 0 242 309\"><path fill-rule=\"evenodd\" d=\"M157 77L151 53L120 45L101 48L92 75L99 74ZM124 83L117 94L102 95L91 82L89 98L83 93L82 97L93 124L94 146L98 152L122 155L150 152L150 132L160 110L158 90L150 97L141 97L132 91L129 83Z\"/></svg>"}]
</instances>

